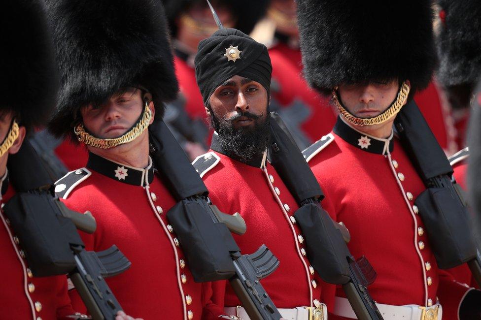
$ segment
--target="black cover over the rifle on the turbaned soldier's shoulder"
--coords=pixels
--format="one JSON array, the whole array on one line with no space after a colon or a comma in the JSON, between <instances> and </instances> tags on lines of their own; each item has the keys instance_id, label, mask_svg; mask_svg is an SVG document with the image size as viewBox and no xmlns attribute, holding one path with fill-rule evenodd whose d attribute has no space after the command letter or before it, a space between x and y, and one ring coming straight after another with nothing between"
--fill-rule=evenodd
<instances>
[{"instance_id":1,"label":"black cover over the rifle on the turbaned soldier's shoulder","mask_svg":"<svg viewBox=\"0 0 481 320\"><path fill-rule=\"evenodd\" d=\"M350 279L346 244L341 232L320 206L319 201L324 195L308 163L281 126L280 117L271 113L269 156L300 207L294 217L306 238L309 262L325 282L344 285Z\"/></svg>"}]
</instances>

